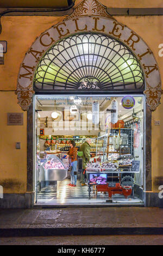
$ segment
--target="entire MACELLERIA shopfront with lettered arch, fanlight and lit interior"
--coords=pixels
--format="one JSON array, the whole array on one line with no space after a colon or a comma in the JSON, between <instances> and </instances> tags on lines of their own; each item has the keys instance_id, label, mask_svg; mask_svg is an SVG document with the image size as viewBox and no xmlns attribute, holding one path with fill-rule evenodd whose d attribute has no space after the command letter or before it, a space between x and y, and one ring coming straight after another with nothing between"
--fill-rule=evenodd
<instances>
[{"instance_id":1,"label":"entire MACELLERIA shopfront with lettered arch, fanlight and lit interior","mask_svg":"<svg viewBox=\"0 0 163 256\"><path fill-rule=\"evenodd\" d=\"M100 6L80 3L21 64L35 205L147 205L159 69L140 36Z\"/></svg>"}]
</instances>

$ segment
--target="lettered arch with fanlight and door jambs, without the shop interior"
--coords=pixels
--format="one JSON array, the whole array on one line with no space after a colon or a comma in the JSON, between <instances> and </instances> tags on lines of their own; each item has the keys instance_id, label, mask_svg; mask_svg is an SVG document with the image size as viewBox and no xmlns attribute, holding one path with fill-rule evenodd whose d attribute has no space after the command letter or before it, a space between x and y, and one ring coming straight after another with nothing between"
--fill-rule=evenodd
<instances>
[{"instance_id":1,"label":"lettered arch with fanlight and door jambs, without the shop interior","mask_svg":"<svg viewBox=\"0 0 163 256\"><path fill-rule=\"evenodd\" d=\"M34 92L50 94L53 92L56 94L76 94L79 92L120 94L123 92L124 95L132 92L135 94L145 93L148 105L146 122L149 123L146 126L146 181L144 180L145 187L143 189L150 191L151 110L154 111L159 105L161 96L158 66L151 50L139 35L109 16L104 7L101 7L102 11L98 13L99 9L98 11L91 9L88 2L84 0L73 15L42 33L30 47L21 64L18 76L18 102L23 110L29 108L28 128L31 130L30 128L33 128L31 123L33 110L30 103ZM99 5L98 1L93 2L95 5ZM83 8L82 14L78 11L81 10L81 7ZM85 40L84 38L86 42L82 41ZM91 44L89 40L92 40ZM107 42L106 45L105 42ZM86 52L80 53L78 46L83 47L84 44L85 46L90 44L92 49L86 46ZM68 48L72 54L74 52L80 54L75 54L73 57L72 54L68 56L66 53L66 56L64 53L62 56L62 50L60 51L57 47L62 47L65 53L65 49ZM73 47L76 50L72 51ZM98 47L103 48L103 53L98 50ZM98 54L93 52L95 49L97 52L99 51ZM90 50L92 52L88 53ZM58 53L52 54L53 51L58 51ZM108 62L108 57L105 56L107 52L108 56L109 53L112 54L113 62ZM127 58L124 58L125 55ZM97 64L96 60L98 65L95 65ZM72 72L72 69L75 71ZM122 96L124 96L123 93ZM113 96L117 95L114 94ZM28 135L28 138L33 139L32 132L29 131ZM33 144L28 145L28 159L30 159L28 161L28 191L32 189L33 179L31 147ZM145 156L145 154L143 155Z\"/></svg>"}]
</instances>

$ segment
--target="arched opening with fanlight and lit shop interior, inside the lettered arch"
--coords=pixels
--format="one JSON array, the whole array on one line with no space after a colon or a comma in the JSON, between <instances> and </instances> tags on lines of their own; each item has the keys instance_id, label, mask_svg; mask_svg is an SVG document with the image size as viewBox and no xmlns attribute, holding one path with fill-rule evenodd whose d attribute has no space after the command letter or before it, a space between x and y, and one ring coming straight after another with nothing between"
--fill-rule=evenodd
<instances>
[{"instance_id":1,"label":"arched opening with fanlight and lit shop interior, inside the lettered arch","mask_svg":"<svg viewBox=\"0 0 163 256\"><path fill-rule=\"evenodd\" d=\"M110 193L114 194L111 191L116 191L112 195L112 200L118 205L143 204L139 193L140 187L144 185L142 148L145 78L141 64L134 53L111 36L99 33L68 36L49 48L40 59L34 75L33 88L37 93L35 97L36 148L39 159L36 169L37 204L87 205L90 203L89 200L93 200L93 205L108 204L106 203L108 193L109 196ZM45 93L46 95L42 95ZM133 100L133 105L128 107L123 105L126 97L129 102ZM114 121L111 119L113 102L117 103L115 111L117 120ZM96 114L93 112L95 105L98 108ZM40 111L39 118L38 111ZM134 119L133 114L135 117L137 115L137 118ZM117 126L118 122L120 126ZM42 136L40 131L43 132ZM138 135L138 131L141 136ZM139 136L137 142L134 139L136 134ZM68 168L68 162L64 158L70 150L68 142L73 140L80 153L80 146L88 137L91 137L92 141L91 159L97 161L90 163L88 168L91 172L87 169L85 180L81 177L82 184L79 181L79 173L76 181L72 179L70 181L68 173L60 176L61 172L62 174L65 172L64 168ZM121 145L117 142L118 138L121 138ZM116 139L116 144L113 139ZM54 170L57 168L55 165L59 165L59 159L62 168L60 171ZM131 170L133 168L131 164L134 166L134 163L139 164L139 170ZM85 168L86 166L81 173ZM52 172L51 169L53 172L59 172L57 175L53 173L53 178L48 176L48 173ZM99 172L94 172L95 169ZM103 169L102 173L100 173L101 169ZM97 179L102 178L106 184L99 186L95 184L92 191L90 184L95 180L96 175ZM74 185L73 190L68 187L70 182ZM86 186L84 186L85 182ZM127 190L129 188L127 186L123 187L123 183L130 184L130 190ZM105 187L102 188L103 185ZM99 196L98 192L101 190L107 192L106 195ZM134 195L134 190L139 193Z\"/></svg>"}]
</instances>

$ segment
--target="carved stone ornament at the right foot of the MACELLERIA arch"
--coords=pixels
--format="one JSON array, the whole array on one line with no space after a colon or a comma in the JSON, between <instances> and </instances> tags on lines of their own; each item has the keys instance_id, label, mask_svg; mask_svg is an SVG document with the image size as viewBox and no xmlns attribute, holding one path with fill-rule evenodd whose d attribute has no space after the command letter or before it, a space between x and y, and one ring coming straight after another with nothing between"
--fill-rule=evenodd
<instances>
[{"instance_id":1,"label":"carved stone ornament at the right foot of the MACELLERIA arch","mask_svg":"<svg viewBox=\"0 0 163 256\"><path fill-rule=\"evenodd\" d=\"M147 105L151 109L151 111L155 111L156 107L160 104L161 94L163 93L163 90L161 89L161 84L159 83L156 87L151 87L147 83L146 90L144 91L144 94L146 94L147 97Z\"/></svg>"}]
</instances>

